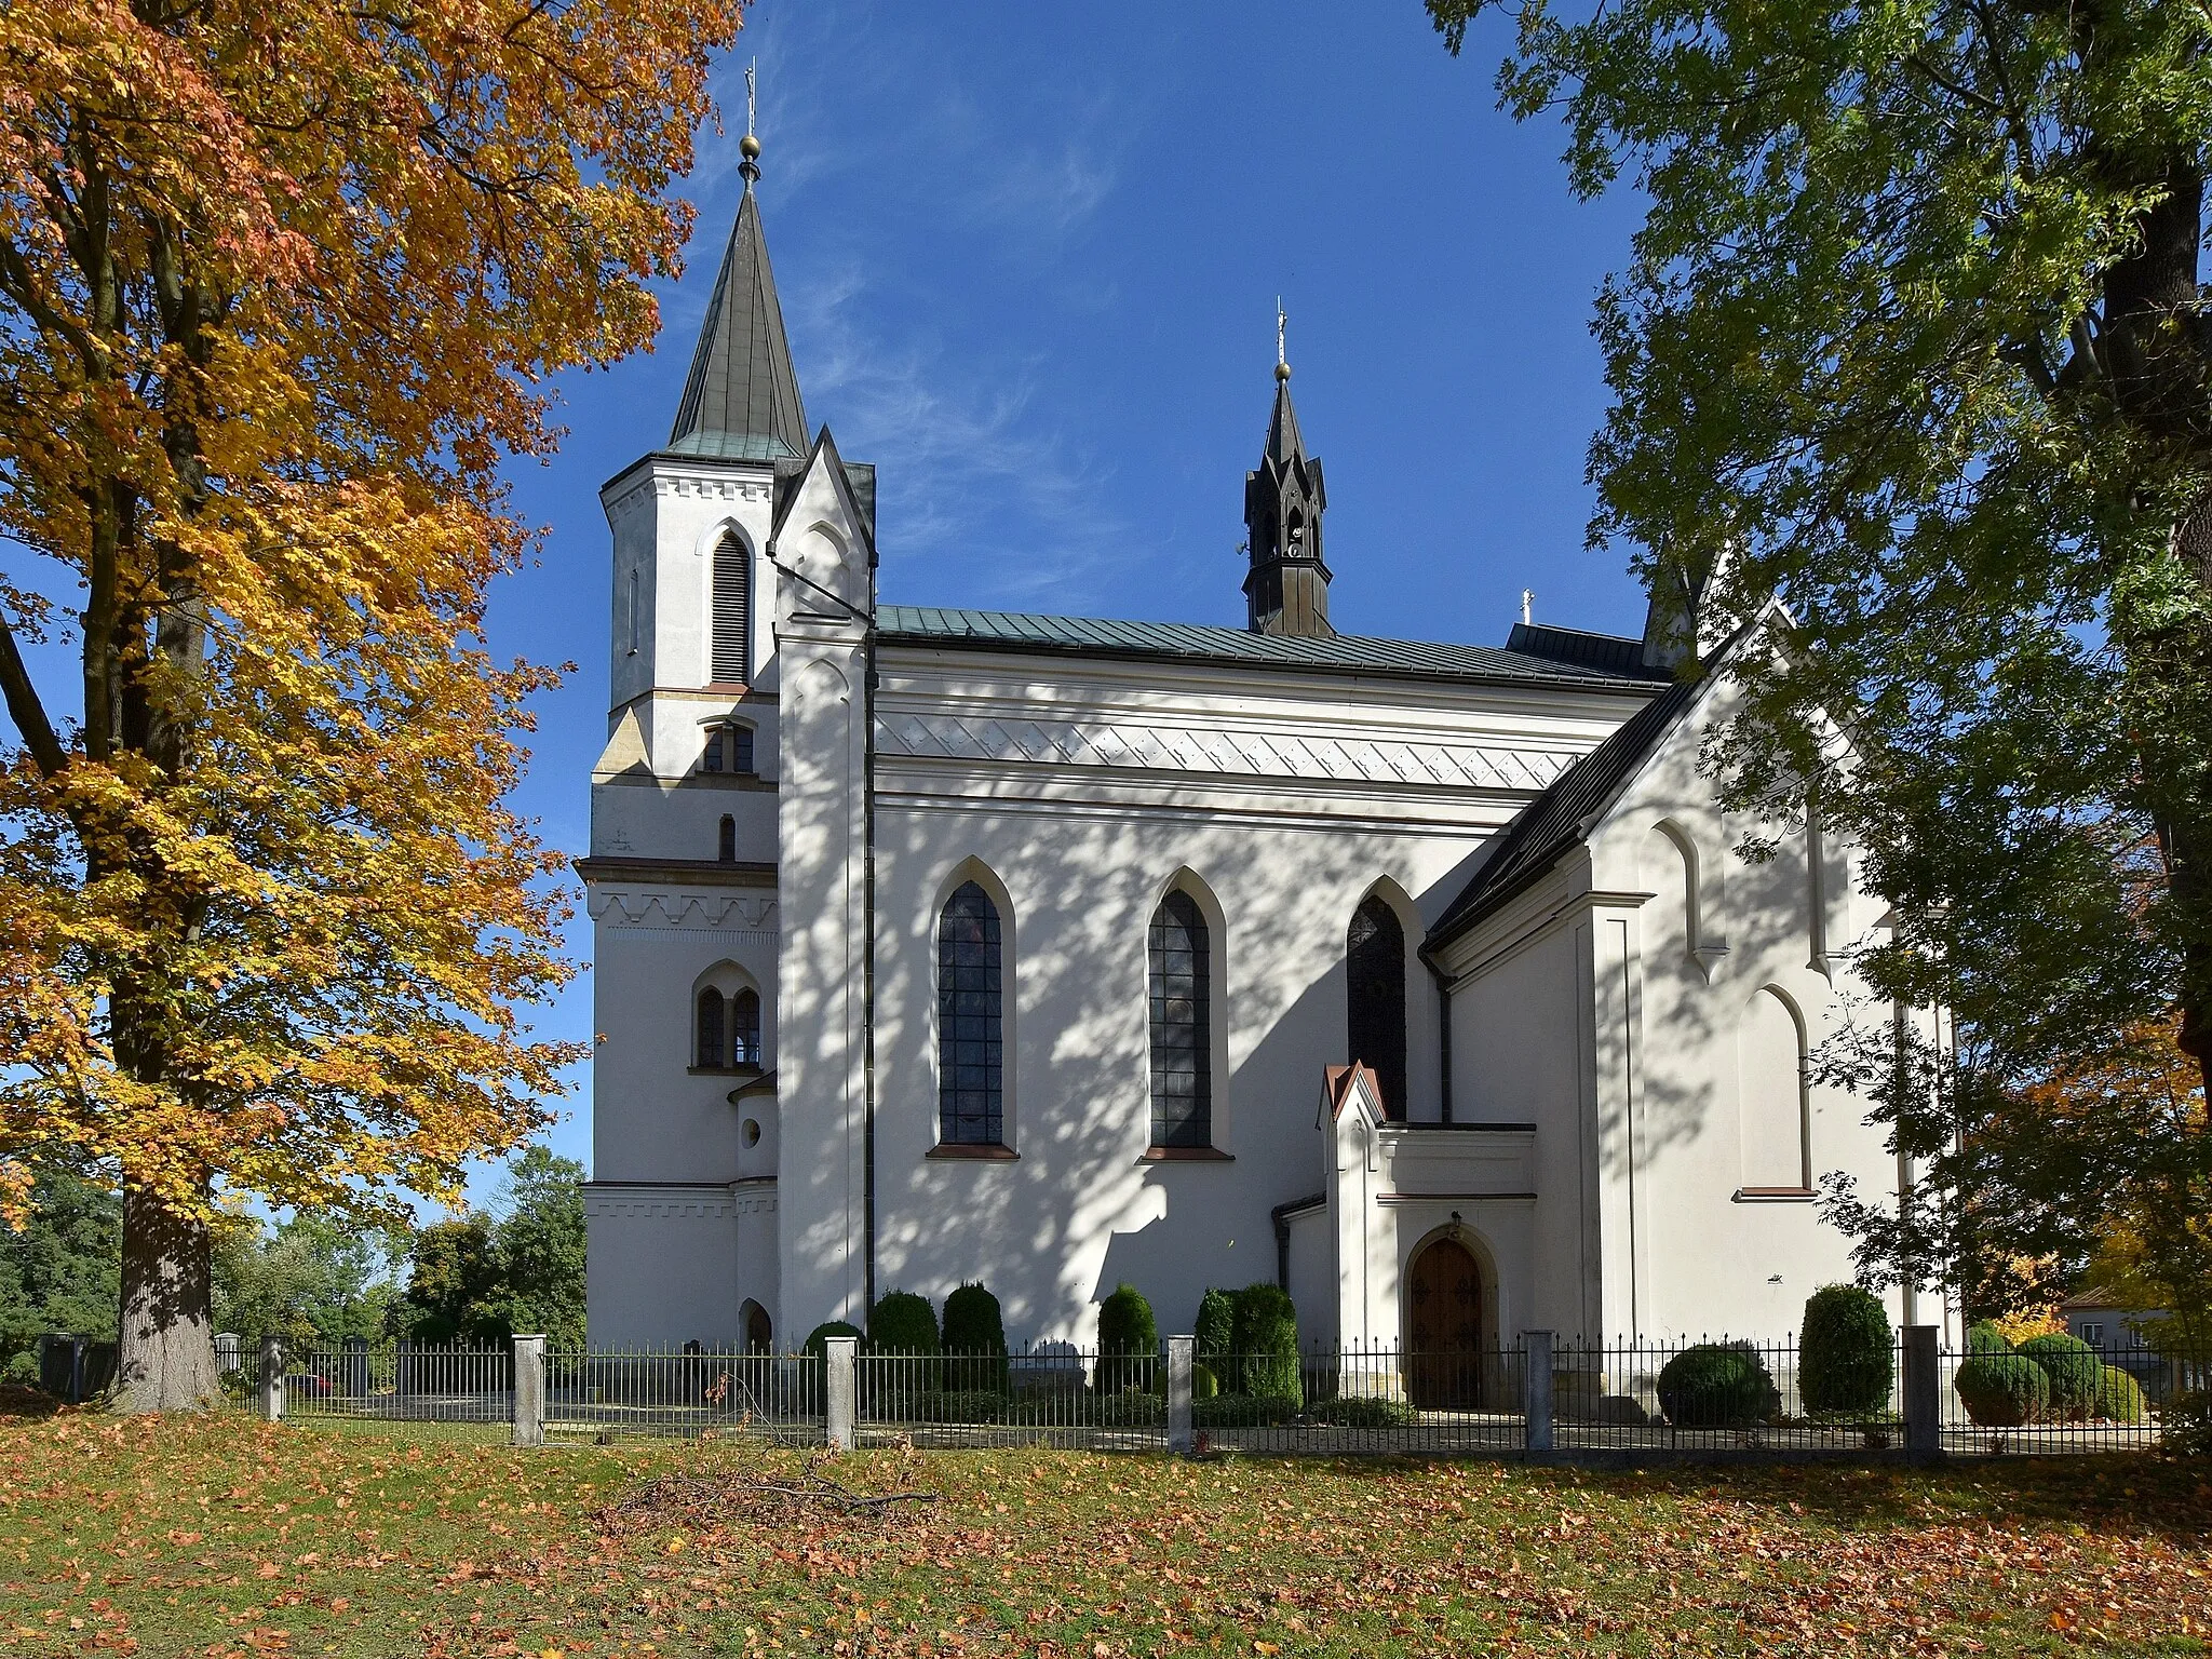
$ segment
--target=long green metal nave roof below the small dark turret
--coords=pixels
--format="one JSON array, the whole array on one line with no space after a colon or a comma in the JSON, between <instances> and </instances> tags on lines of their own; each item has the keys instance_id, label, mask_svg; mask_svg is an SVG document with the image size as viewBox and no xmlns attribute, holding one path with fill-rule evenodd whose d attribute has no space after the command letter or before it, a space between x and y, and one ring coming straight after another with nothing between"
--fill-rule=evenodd
<instances>
[{"instance_id":1,"label":"long green metal nave roof below the small dark turret","mask_svg":"<svg viewBox=\"0 0 2212 1659\"><path fill-rule=\"evenodd\" d=\"M1416 639L1283 639L1243 628L1203 628L1188 622L1110 622L1104 617L1046 617L1024 611L949 611L940 606L876 606L883 639L969 650L1024 650L1077 657L1175 657L1183 661L1245 664L1252 668L1307 668L1411 679L1489 679L1542 686L1608 686L1652 690L1652 670L1621 672L1562 664L1498 646L1449 646Z\"/></svg>"}]
</instances>

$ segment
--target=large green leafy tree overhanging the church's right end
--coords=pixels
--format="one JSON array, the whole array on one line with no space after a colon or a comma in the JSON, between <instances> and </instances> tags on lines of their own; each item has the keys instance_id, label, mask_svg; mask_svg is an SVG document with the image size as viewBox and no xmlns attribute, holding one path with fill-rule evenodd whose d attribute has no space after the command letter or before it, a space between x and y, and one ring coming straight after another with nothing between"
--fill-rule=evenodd
<instances>
[{"instance_id":1,"label":"large green leafy tree overhanging the church's right end","mask_svg":"<svg viewBox=\"0 0 2212 1659\"><path fill-rule=\"evenodd\" d=\"M1453 51L1491 4L1427 0ZM1867 978L1955 1015L1955 1071L1880 1018L1823 1057L1927 1170L1905 1217L1832 1183L1863 1265L1966 1283L2079 1261L2115 1208L2205 1214L2212 13L1506 9L1504 102L1566 111L1577 192L1646 204L1597 307L1590 533L1708 639L1785 602L1710 754L1728 805L1818 799L1896 922Z\"/></svg>"}]
</instances>

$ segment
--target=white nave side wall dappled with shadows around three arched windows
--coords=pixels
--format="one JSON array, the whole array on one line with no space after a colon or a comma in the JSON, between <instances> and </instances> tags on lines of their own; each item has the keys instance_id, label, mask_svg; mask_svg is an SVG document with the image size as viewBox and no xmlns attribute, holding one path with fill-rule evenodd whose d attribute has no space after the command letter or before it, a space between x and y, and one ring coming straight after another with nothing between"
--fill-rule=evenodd
<instances>
[{"instance_id":1,"label":"white nave side wall dappled with shadows around three arched windows","mask_svg":"<svg viewBox=\"0 0 2212 1659\"><path fill-rule=\"evenodd\" d=\"M1358 732L1511 748L1553 776L1641 699L1352 684L1237 670L1022 664L883 650L876 796L876 1285L942 1303L982 1279L1009 1336L1091 1340L1130 1281L1161 1329L1208 1285L1276 1276L1270 1210L1321 1188L1314 1097L1345 1055L1345 936L1378 883L1433 918L1533 787L1274 776L1223 743ZM958 730L947 723L958 721ZM1066 732L1082 730L1071 739ZM1033 732L1055 737L1033 739ZM1186 734L1194 734L1186 741ZM1148 754L1106 765L1097 754ZM1055 745L1057 743L1057 745ZM1241 754L1261 752L1248 743ZM1281 754L1287 743L1272 743ZM1071 759L1073 757L1073 759ZM1356 761L1345 761L1349 772ZM1013 909L1013 1161L931 1159L936 905L980 863ZM1201 894L1212 949L1217 1146L1146 1161L1146 929ZM1438 998L1409 962L1411 1115L1440 1110ZM1310 1228L1310 1223L1305 1223ZM1294 1223L1294 1252L1305 1228ZM1301 1254L1303 1261L1303 1254ZM1294 1263L1296 1272L1296 1263ZM1329 1314L1301 1310L1327 1334Z\"/></svg>"}]
</instances>

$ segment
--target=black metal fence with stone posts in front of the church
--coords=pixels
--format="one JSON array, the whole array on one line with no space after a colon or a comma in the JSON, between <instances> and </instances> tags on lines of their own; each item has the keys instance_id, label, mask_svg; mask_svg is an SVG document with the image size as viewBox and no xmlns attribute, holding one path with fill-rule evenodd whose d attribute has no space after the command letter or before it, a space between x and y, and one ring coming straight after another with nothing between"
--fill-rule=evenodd
<instances>
[{"instance_id":1,"label":"black metal fence with stone posts in front of the church","mask_svg":"<svg viewBox=\"0 0 2212 1659\"><path fill-rule=\"evenodd\" d=\"M1181 1347L1177 1347L1181 1343ZM2020 1455L2143 1449L2212 1396L2212 1365L2152 1347L2020 1354L1898 1340L1838 1363L1798 1343L1613 1340L1402 1354L1159 1354L1044 1343L989 1356L365 1345L283 1363L307 1420L513 1425L533 1442L745 1433L794 1444L1051 1444L1478 1458ZM252 1365L248 1356L248 1365ZM520 1378L526 1387L518 1389ZM1909 1422L1920 1396L1933 1409ZM1929 1383L1929 1378L1933 1378ZM263 1389L263 1398L268 1391Z\"/></svg>"}]
</instances>

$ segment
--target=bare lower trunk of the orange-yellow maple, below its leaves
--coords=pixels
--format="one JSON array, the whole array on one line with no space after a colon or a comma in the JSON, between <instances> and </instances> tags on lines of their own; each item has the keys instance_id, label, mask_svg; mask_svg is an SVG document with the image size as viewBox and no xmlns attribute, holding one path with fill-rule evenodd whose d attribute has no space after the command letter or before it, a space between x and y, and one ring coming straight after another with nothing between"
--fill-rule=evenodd
<instances>
[{"instance_id":1,"label":"bare lower trunk of the orange-yellow maple, below its leaves","mask_svg":"<svg viewBox=\"0 0 2212 1659\"><path fill-rule=\"evenodd\" d=\"M128 1186L119 1334L117 1411L197 1411L217 1400L208 1230Z\"/></svg>"}]
</instances>

